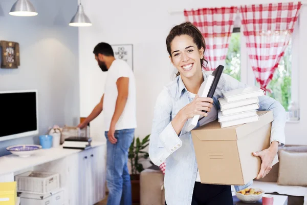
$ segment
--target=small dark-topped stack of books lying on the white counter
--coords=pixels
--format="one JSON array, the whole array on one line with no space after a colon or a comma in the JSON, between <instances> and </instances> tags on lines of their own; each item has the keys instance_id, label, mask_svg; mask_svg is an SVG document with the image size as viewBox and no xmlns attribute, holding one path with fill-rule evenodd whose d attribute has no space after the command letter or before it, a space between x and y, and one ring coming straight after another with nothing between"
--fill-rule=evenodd
<instances>
[{"instance_id":1,"label":"small dark-topped stack of books lying on the white counter","mask_svg":"<svg viewBox=\"0 0 307 205\"><path fill-rule=\"evenodd\" d=\"M68 137L63 143L63 148L86 150L91 148L91 137Z\"/></svg>"}]
</instances>

